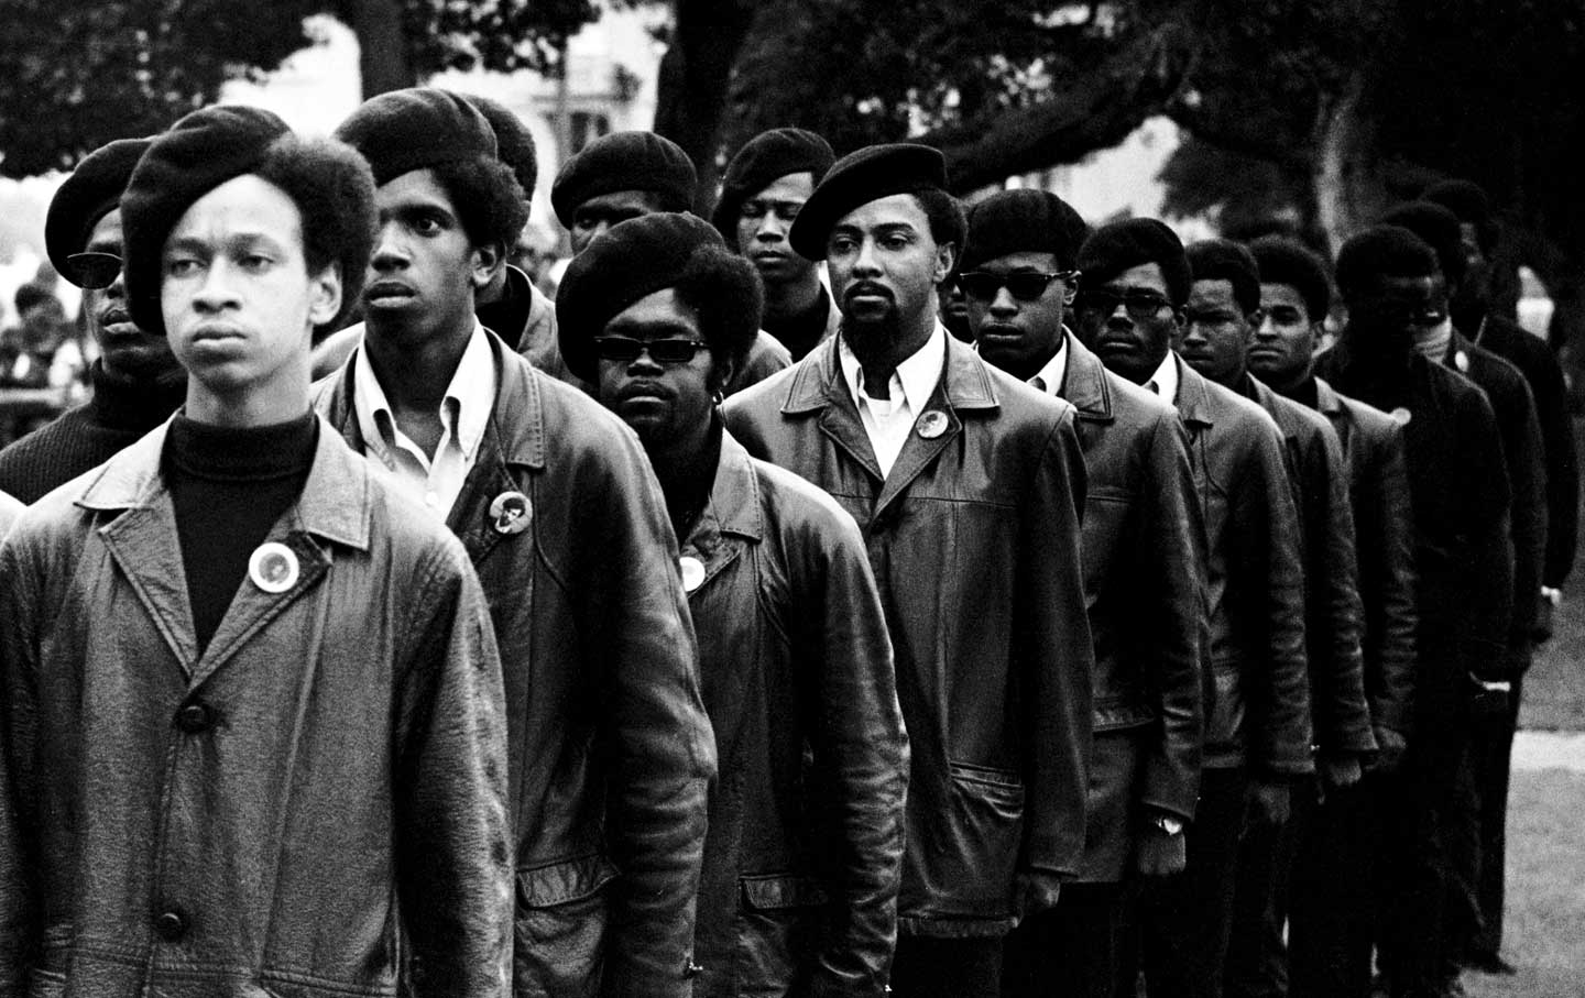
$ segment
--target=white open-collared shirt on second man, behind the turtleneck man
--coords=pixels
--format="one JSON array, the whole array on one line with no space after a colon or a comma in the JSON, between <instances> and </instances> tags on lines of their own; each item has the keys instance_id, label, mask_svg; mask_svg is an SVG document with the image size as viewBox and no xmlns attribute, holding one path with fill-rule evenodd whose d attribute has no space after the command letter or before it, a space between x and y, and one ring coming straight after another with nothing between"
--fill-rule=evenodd
<instances>
[{"instance_id":1,"label":"white open-collared shirt on second man, behind the turtleneck man","mask_svg":"<svg viewBox=\"0 0 1585 998\"><path fill-rule=\"evenodd\" d=\"M441 442L433 458L398 429L366 347L358 350L352 377L352 404L365 455L384 464L404 491L444 521L474 467L495 407L496 371L485 328L474 323L463 360L441 399Z\"/></svg>"}]
</instances>

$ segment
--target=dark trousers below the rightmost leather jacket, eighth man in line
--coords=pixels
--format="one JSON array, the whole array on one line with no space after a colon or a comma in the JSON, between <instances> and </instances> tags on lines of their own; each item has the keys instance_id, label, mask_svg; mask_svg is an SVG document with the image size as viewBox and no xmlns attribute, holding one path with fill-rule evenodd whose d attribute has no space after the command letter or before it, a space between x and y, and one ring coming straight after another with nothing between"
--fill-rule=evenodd
<instances>
[{"instance_id":1,"label":"dark trousers below the rightmost leather jacket, eighth man in line","mask_svg":"<svg viewBox=\"0 0 1585 998\"><path fill-rule=\"evenodd\" d=\"M1289 998L1369 998L1384 778L1295 800Z\"/></svg>"}]
</instances>

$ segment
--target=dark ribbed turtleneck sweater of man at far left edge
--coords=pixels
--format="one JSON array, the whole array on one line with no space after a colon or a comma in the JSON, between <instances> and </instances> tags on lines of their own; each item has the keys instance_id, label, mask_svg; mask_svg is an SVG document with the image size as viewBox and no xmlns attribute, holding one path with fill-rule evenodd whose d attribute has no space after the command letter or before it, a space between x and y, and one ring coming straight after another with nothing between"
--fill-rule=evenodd
<instances>
[{"instance_id":1,"label":"dark ribbed turtleneck sweater of man at far left edge","mask_svg":"<svg viewBox=\"0 0 1585 998\"><path fill-rule=\"evenodd\" d=\"M0 450L0 491L36 502L120 453L176 412L187 396L187 374L141 382L117 377L94 363L94 398L54 423Z\"/></svg>"}]
</instances>

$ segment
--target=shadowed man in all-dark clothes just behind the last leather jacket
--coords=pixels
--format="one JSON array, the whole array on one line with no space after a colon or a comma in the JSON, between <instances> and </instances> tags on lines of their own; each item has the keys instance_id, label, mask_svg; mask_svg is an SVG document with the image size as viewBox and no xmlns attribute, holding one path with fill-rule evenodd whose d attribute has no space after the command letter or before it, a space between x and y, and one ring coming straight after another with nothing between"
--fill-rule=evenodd
<instances>
[{"instance_id":1,"label":"shadowed man in all-dark clothes just behind the last leather jacket","mask_svg":"<svg viewBox=\"0 0 1585 998\"><path fill-rule=\"evenodd\" d=\"M1387 794L1381 962L1393 995L1441 995L1457 982L1446 917L1457 776L1471 713L1504 707L1507 475L1485 393L1417 349L1447 307L1431 249L1404 228L1368 230L1338 253L1338 288L1349 325L1316 371L1403 426L1414 507L1414 737Z\"/></svg>"}]
</instances>

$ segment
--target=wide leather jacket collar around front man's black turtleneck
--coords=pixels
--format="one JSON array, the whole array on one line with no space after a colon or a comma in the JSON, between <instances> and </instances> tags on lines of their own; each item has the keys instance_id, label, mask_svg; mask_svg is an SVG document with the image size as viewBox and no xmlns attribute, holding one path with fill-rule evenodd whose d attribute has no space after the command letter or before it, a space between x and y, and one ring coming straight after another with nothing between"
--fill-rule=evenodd
<instances>
[{"instance_id":1,"label":"wide leather jacket collar around front man's black turtleneck","mask_svg":"<svg viewBox=\"0 0 1585 998\"><path fill-rule=\"evenodd\" d=\"M174 418L174 417L173 417ZM76 504L86 510L114 512L154 505L165 493L160 455L170 420L127 447L89 482ZM298 499L298 518L307 534L366 551L369 548L369 469L347 450L338 432L320 418L314 466Z\"/></svg>"}]
</instances>

